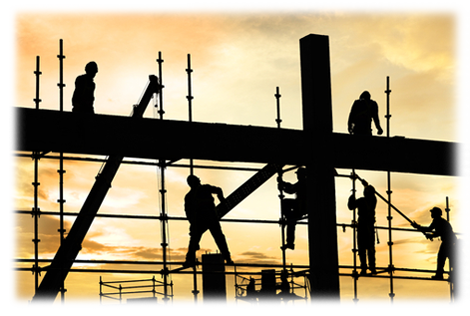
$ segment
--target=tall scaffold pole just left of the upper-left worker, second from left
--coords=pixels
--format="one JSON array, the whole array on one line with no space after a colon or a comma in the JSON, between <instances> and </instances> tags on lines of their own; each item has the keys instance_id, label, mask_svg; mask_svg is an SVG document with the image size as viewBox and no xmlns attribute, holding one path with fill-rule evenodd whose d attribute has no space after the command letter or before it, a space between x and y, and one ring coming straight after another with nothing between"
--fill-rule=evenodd
<instances>
[{"instance_id":1,"label":"tall scaffold pole just left of the upper-left worker, second from left","mask_svg":"<svg viewBox=\"0 0 470 316\"><path fill-rule=\"evenodd\" d=\"M59 87L59 109L60 112L64 111L64 63L63 60L65 58L63 54L63 41L62 39L59 42L59 55L57 56L59 58L59 83L57 84ZM60 244L62 245L62 242L64 240L64 153L60 152L59 153L59 170L57 170L59 173L59 199L57 202L59 203L59 211L60 211L60 228L59 228L59 234L60 234ZM65 309L65 292L67 290L65 289L65 282L62 283L62 286L60 287L60 298L61 298L61 309Z\"/></svg>"}]
</instances>

